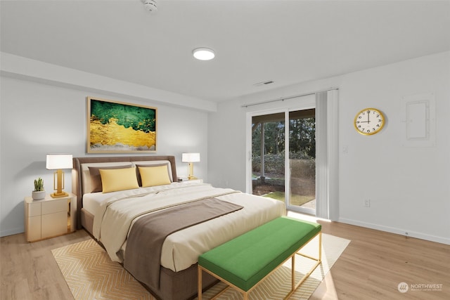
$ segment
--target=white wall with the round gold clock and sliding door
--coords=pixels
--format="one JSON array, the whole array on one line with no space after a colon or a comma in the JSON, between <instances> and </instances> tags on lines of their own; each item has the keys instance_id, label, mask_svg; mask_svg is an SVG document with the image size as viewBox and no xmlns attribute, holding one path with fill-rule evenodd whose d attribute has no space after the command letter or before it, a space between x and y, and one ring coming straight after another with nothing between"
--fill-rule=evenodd
<instances>
[{"instance_id":1,"label":"white wall with the round gold clock and sliding door","mask_svg":"<svg viewBox=\"0 0 450 300\"><path fill-rule=\"evenodd\" d=\"M242 104L330 87L340 89L339 221L450 244L450 52L221 103L208 119L210 182L245 189ZM436 143L404 147L401 98L429 92L435 94ZM354 129L354 116L364 107L378 107L387 117L375 136ZM364 207L364 199L371 207Z\"/></svg>"}]
</instances>

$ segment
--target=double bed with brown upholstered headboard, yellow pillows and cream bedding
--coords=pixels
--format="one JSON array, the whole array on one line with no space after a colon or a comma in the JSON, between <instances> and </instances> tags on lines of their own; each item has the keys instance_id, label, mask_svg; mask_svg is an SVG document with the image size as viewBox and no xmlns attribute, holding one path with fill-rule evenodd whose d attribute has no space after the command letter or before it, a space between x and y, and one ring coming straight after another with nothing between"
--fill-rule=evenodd
<instances>
[{"instance_id":1,"label":"double bed with brown upholstered headboard, yellow pillows and cream bedding","mask_svg":"<svg viewBox=\"0 0 450 300\"><path fill-rule=\"evenodd\" d=\"M172 155L75 157L72 169L77 229L162 300L195 297L200 254L285 214L270 198L176 178ZM165 223L151 223L159 219ZM179 220L180 228L169 229ZM216 281L205 275L203 287Z\"/></svg>"}]
</instances>

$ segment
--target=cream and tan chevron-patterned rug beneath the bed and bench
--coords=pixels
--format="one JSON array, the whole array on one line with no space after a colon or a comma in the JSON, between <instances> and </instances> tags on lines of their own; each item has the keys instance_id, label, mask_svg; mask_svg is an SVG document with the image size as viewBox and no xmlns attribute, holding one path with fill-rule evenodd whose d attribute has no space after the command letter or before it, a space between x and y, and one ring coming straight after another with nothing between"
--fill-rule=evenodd
<instances>
[{"instance_id":1,"label":"cream and tan chevron-patterned rug beneath the bed and bench","mask_svg":"<svg viewBox=\"0 0 450 300\"><path fill-rule=\"evenodd\" d=\"M333 266L340 254L349 244L349 240L322 234L322 263L303 282L290 297L293 300L308 299L319 286L326 273ZM302 253L316 257L318 242L313 240L302 249ZM77 244L51 251L70 287L75 300L93 299L149 299L153 296L142 287L119 263L110 260L105 250L94 240L86 240ZM295 259L296 280L314 265L314 261L303 256ZM203 293L203 299L210 299L221 291L225 285L218 283ZM250 300L283 299L290 290L290 260L276 270L264 282L250 293ZM240 300L242 294L229 289L222 294L221 300Z\"/></svg>"}]
</instances>

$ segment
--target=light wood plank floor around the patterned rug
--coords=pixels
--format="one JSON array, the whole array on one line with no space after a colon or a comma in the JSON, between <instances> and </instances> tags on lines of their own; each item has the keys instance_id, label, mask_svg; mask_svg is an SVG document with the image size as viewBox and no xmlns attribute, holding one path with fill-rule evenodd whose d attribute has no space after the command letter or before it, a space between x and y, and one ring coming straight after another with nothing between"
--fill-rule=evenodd
<instances>
[{"instance_id":1,"label":"light wood plank floor around the patterned rug","mask_svg":"<svg viewBox=\"0 0 450 300\"><path fill-rule=\"evenodd\" d=\"M449 245L342 223L319 223L323 233L352 242L310 299L450 299ZM89 238L84 230L34 243L26 242L23 234L1 237L0 299L73 299L51 249ZM419 290L400 293L400 282ZM431 284L442 289L420 290Z\"/></svg>"}]
</instances>

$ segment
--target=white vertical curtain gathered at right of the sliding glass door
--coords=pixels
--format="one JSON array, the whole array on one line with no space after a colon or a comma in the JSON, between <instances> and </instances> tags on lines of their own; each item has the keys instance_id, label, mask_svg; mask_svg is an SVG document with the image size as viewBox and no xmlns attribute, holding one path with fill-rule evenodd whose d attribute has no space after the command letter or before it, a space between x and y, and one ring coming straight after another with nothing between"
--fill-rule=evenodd
<instances>
[{"instance_id":1,"label":"white vertical curtain gathered at right of the sliding glass door","mask_svg":"<svg viewBox=\"0 0 450 300\"><path fill-rule=\"evenodd\" d=\"M339 218L339 91L316 93L316 216Z\"/></svg>"}]
</instances>

